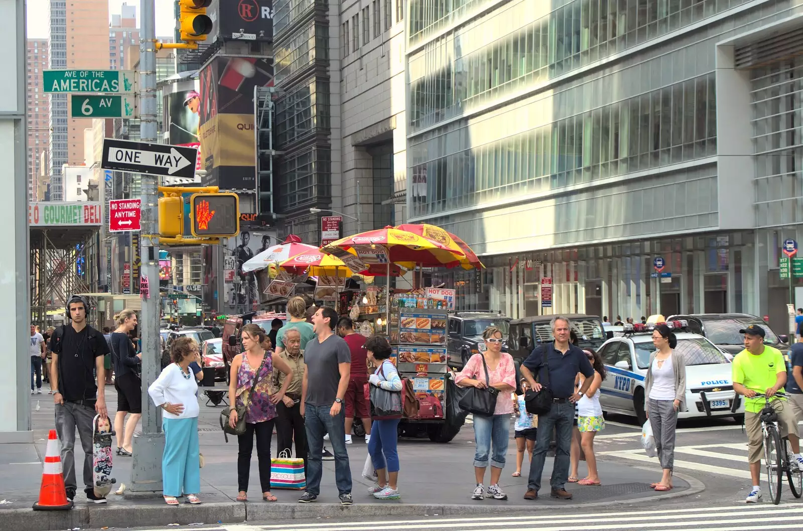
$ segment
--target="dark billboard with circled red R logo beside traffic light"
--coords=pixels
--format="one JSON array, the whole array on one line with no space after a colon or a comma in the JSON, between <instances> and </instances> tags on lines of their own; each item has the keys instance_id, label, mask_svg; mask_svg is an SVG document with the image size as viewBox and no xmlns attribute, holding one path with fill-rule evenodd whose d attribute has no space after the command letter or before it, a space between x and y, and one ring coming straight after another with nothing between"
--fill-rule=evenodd
<instances>
[{"instance_id":1,"label":"dark billboard with circled red R logo beside traffic light","mask_svg":"<svg viewBox=\"0 0 803 531\"><path fill-rule=\"evenodd\" d=\"M206 14L214 27L210 40L217 36L232 39L232 34L246 34L247 40L273 40L273 0L214 0Z\"/></svg>"}]
</instances>

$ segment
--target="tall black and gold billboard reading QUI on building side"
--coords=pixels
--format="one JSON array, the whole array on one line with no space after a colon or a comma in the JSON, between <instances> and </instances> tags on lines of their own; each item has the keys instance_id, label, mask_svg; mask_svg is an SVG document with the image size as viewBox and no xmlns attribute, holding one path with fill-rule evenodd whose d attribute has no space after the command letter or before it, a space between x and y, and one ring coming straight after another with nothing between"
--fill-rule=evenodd
<instances>
[{"instance_id":1,"label":"tall black and gold billboard reading QUI on building side","mask_svg":"<svg viewBox=\"0 0 803 531\"><path fill-rule=\"evenodd\" d=\"M200 78L203 184L255 190L254 89L273 86L272 59L218 56Z\"/></svg>"}]
</instances>

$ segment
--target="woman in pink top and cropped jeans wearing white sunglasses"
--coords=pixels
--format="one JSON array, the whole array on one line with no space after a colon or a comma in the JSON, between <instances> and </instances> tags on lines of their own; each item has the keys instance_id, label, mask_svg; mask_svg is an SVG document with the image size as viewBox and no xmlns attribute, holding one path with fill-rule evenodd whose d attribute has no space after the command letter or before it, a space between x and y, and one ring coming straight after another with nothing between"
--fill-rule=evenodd
<instances>
[{"instance_id":1,"label":"woman in pink top and cropped jeans wearing white sunglasses","mask_svg":"<svg viewBox=\"0 0 803 531\"><path fill-rule=\"evenodd\" d=\"M516 367L510 354L502 352L502 331L489 326L483 332L485 352L471 356L463 370L454 378L461 387L494 387L496 409L490 417L474 415L474 475L477 484L471 494L472 500L482 500L483 494L495 500L507 500L507 494L499 488L499 476L504 468L507 443L510 439L510 414L513 412L512 392L516 390ZM488 367L488 381L485 378L483 357ZM491 453L491 445L493 452ZM483 487L488 455L491 454L491 484L487 492Z\"/></svg>"}]
</instances>

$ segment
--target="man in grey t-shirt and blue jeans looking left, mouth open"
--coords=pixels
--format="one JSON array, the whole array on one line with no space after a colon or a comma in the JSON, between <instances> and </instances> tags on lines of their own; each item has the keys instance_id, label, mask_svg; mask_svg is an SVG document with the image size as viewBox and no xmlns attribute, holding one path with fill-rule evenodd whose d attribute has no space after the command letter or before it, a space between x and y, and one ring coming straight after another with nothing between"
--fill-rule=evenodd
<instances>
[{"instance_id":1,"label":"man in grey t-shirt and blue jeans looking left, mouth open","mask_svg":"<svg viewBox=\"0 0 803 531\"><path fill-rule=\"evenodd\" d=\"M315 501L320 494L320 477L323 475L321 457L324 451L324 434L328 432L335 454L335 483L340 493L340 504L351 505L352 477L349 454L345 443L345 412L343 397L351 375L349 345L334 333L337 312L332 308L318 308L312 316L316 333L304 349L304 380L301 386L301 415L307 432L307 490L299 503Z\"/></svg>"}]
</instances>

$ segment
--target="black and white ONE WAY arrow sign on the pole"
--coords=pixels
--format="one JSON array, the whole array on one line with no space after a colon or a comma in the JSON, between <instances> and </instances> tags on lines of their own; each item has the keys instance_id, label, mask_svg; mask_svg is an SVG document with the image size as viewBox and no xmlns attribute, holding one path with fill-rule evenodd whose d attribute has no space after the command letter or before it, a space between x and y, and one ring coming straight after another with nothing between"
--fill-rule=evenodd
<instances>
[{"instance_id":1,"label":"black and white ONE WAY arrow sign on the pole","mask_svg":"<svg viewBox=\"0 0 803 531\"><path fill-rule=\"evenodd\" d=\"M104 138L100 167L135 174L195 178L198 151L182 145L146 144Z\"/></svg>"}]
</instances>

